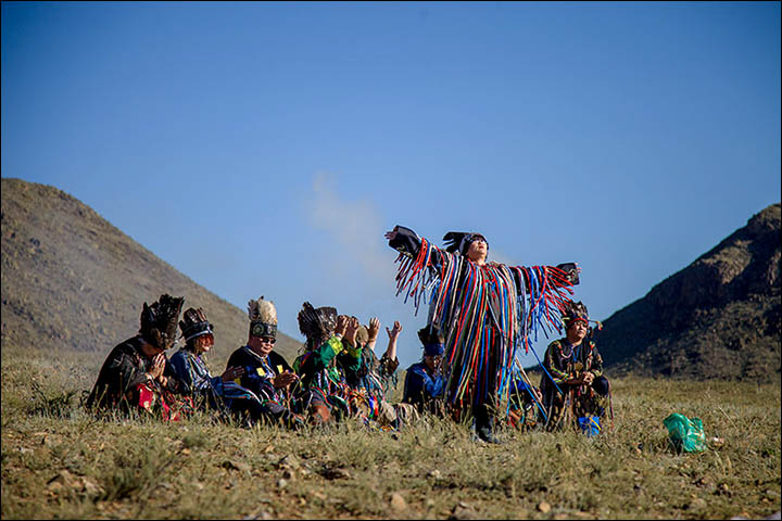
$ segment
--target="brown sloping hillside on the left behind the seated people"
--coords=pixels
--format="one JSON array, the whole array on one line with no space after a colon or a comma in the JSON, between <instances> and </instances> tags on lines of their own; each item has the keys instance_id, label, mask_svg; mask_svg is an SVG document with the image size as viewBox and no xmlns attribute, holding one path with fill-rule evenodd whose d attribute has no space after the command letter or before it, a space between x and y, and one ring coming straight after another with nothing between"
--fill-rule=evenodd
<instances>
[{"instance_id":1,"label":"brown sloping hillside on the left behind the seated people","mask_svg":"<svg viewBox=\"0 0 782 521\"><path fill-rule=\"evenodd\" d=\"M162 293L185 296L182 310L206 312L215 326L214 373L247 342L245 309L193 282L89 206L53 187L1 182L2 352L108 354L136 334L142 304ZM263 288L248 291L248 300L263 294ZM275 350L289 361L300 346L278 333Z\"/></svg>"}]
</instances>

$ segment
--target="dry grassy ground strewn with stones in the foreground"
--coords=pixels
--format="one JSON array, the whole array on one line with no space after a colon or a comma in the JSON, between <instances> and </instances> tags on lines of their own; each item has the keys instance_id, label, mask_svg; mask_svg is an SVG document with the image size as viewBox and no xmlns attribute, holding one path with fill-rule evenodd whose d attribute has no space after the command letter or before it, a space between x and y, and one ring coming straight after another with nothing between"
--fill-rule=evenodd
<instances>
[{"instance_id":1,"label":"dry grassy ground strewn with stones in the foreground","mask_svg":"<svg viewBox=\"0 0 782 521\"><path fill-rule=\"evenodd\" d=\"M764 518L780 510L780 384L614 380L596 439L505 431L478 445L429 419L290 433L78 406L103 354L2 354L2 518ZM223 367L214 364L214 367ZM676 454L663 419L720 447Z\"/></svg>"}]
</instances>

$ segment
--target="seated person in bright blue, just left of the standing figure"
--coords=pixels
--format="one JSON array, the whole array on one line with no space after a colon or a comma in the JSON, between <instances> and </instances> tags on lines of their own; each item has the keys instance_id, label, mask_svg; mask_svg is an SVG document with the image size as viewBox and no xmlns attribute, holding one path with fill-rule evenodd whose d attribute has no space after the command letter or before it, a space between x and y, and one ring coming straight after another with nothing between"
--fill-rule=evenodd
<instances>
[{"instance_id":1,"label":"seated person in bright blue, just left of the standing figure","mask_svg":"<svg viewBox=\"0 0 782 521\"><path fill-rule=\"evenodd\" d=\"M418 331L424 344L424 359L407 368L402 402L415 405L419 411L443 412L445 377L442 371L444 339L438 331L425 327Z\"/></svg>"}]
</instances>

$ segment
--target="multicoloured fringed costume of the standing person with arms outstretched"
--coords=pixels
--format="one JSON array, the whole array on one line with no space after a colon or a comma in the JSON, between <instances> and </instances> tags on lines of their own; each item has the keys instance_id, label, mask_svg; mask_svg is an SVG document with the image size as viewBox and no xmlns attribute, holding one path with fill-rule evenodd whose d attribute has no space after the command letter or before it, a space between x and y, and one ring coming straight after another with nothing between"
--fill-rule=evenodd
<instances>
[{"instance_id":1,"label":"multicoloured fringed costume of the standing person with arms outstretched","mask_svg":"<svg viewBox=\"0 0 782 521\"><path fill-rule=\"evenodd\" d=\"M450 232L441 250L408 228L394 231L396 294L412 297L417 309L431 291L429 325L445 335L446 403L457 416L472 409L476 427L491 432L490 407L507 398L517 347L528 350L539 328L558 329L578 268L480 266L466 252L482 236Z\"/></svg>"}]
</instances>

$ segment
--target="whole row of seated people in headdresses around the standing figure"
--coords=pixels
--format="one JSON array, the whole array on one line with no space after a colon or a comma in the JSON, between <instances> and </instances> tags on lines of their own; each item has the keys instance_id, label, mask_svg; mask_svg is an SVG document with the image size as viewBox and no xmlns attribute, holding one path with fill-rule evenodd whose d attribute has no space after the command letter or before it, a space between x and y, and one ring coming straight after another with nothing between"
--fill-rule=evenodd
<instances>
[{"instance_id":1,"label":"whole row of seated people in headdresses around the standing figure","mask_svg":"<svg viewBox=\"0 0 782 521\"><path fill-rule=\"evenodd\" d=\"M277 312L262 296L248 304L247 344L230 355L222 374L213 376L203 355L214 346L214 328L202 308L188 308L179 320L184 302L164 294L151 305L143 304L138 334L111 351L87 398L88 408L143 410L174 421L200 410L219 421L290 429L355 418L380 430L395 430L425 412L447 414L444 339L428 327L418 331L422 359L407 369L403 398L392 404L399 321L386 328L388 347L378 358L377 318L362 326L356 317L339 315L333 307L315 308L305 302L298 321L306 343L291 365L274 351ZM510 425L526 429L545 421L556 428L568 415L603 416L605 409L595 399L608 394L602 359L594 343L583 341L585 320L570 318L567 336L546 351L540 390L526 378L513 382ZM185 345L169 359L165 351L177 336Z\"/></svg>"}]
</instances>

